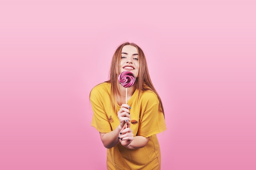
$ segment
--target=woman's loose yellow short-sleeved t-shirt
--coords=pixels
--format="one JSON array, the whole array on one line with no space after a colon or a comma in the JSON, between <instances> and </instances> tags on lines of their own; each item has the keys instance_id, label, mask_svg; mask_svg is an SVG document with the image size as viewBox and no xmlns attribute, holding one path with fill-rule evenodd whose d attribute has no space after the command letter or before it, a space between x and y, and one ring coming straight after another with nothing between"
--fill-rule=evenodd
<instances>
[{"instance_id":1,"label":"woman's loose yellow short-sleeved t-shirt","mask_svg":"<svg viewBox=\"0 0 256 170\"><path fill-rule=\"evenodd\" d=\"M164 114L157 98L152 91L143 91L138 96L136 89L128 105L133 136L149 137L148 144L135 150L127 149L120 143L107 149L108 170L159 170L161 166L161 153L157 140L157 133L166 130ZM92 126L101 133L108 133L119 126L117 112L111 107L110 83L101 83L94 87L90 94L93 118ZM121 106L117 105L117 111Z\"/></svg>"}]
</instances>

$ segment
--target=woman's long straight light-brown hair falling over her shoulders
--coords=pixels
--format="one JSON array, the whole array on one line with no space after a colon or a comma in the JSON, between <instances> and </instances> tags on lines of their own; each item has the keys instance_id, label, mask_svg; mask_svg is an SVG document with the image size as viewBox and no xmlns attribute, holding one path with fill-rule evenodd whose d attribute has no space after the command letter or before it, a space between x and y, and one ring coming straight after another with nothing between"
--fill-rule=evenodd
<instances>
[{"instance_id":1,"label":"woman's long straight light-brown hair falling over her shoulders","mask_svg":"<svg viewBox=\"0 0 256 170\"><path fill-rule=\"evenodd\" d=\"M157 91L155 90L155 87L154 87L154 85L150 79L149 73L148 73L148 65L147 65L145 54L139 46L137 46L134 43L129 43L129 42L121 44L117 48L117 50L115 51L115 53L112 57L111 66L110 66L110 76L109 76L109 80L106 81L107 83L111 83L110 100L112 103L112 108L114 110L116 110L117 93L119 92L118 76L121 73L121 67L120 67L121 52L122 52L123 47L127 46L127 45L134 46L135 48L137 48L137 51L138 51L139 74L138 74L138 77L136 78L136 82L134 85L135 85L136 89L139 90L139 95L140 95L141 91L151 90L152 92L154 92L157 95L157 98L160 102L162 111L164 113L162 100L161 100L159 94L157 93Z\"/></svg>"}]
</instances>

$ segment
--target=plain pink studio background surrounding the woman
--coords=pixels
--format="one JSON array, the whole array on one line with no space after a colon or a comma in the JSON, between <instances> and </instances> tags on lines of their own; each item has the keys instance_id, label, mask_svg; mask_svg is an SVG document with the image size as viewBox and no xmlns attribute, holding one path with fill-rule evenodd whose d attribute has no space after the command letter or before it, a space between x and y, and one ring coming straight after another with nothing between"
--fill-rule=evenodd
<instances>
[{"instance_id":1,"label":"plain pink studio background surrounding the woman","mask_svg":"<svg viewBox=\"0 0 256 170\"><path fill-rule=\"evenodd\" d=\"M162 170L256 169L254 0L1 0L0 169L103 170L89 93L146 53Z\"/></svg>"}]
</instances>

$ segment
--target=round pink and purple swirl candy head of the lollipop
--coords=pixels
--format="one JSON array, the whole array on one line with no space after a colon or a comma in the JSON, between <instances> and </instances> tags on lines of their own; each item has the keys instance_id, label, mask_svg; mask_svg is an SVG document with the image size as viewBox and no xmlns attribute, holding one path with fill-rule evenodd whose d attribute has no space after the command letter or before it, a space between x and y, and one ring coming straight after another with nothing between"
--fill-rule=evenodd
<instances>
[{"instance_id":1,"label":"round pink and purple swirl candy head of the lollipop","mask_svg":"<svg viewBox=\"0 0 256 170\"><path fill-rule=\"evenodd\" d=\"M136 81L136 77L132 72L124 71L119 74L118 81L124 87L132 87Z\"/></svg>"}]
</instances>

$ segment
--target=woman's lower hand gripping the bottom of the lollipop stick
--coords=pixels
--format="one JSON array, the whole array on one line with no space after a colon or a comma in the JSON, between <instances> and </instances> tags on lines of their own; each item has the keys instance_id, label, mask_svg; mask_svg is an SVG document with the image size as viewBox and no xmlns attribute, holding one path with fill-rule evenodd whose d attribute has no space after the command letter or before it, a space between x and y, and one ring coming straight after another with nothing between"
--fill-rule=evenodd
<instances>
[{"instance_id":1,"label":"woman's lower hand gripping the bottom of the lollipop stick","mask_svg":"<svg viewBox=\"0 0 256 170\"><path fill-rule=\"evenodd\" d=\"M121 145L128 147L129 144L133 141L133 133L132 133L132 129L130 129L131 123L129 121L127 121L126 123L127 123L127 128L123 126L122 130L119 133L118 139Z\"/></svg>"}]
</instances>

